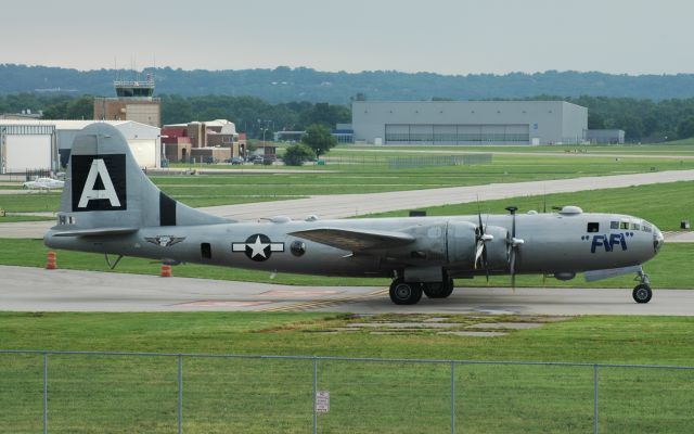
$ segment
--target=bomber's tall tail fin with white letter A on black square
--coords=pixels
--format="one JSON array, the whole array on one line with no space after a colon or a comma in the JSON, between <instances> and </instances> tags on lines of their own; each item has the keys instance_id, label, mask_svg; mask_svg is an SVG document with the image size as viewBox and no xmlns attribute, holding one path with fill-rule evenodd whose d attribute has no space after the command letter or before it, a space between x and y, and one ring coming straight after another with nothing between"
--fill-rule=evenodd
<instances>
[{"instance_id":1,"label":"bomber's tall tail fin with white letter A on black square","mask_svg":"<svg viewBox=\"0 0 694 434\"><path fill-rule=\"evenodd\" d=\"M188 207L162 192L138 166L125 137L94 123L75 138L59 213L57 231L139 229L229 222Z\"/></svg>"}]
</instances>

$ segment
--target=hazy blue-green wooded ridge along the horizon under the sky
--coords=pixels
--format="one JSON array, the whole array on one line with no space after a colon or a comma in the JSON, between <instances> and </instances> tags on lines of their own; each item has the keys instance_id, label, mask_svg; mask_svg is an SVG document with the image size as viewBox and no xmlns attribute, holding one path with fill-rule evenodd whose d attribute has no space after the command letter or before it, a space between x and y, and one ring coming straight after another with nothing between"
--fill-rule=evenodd
<instances>
[{"instance_id":1,"label":"hazy blue-green wooded ridge along the horizon under the sky","mask_svg":"<svg viewBox=\"0 0 694 434\"><path fill-rule=\"evenodd\" d=\"M287 66L227 71L158 67L138 72L15 64L0 64L0 94L61 91L74 95L107 97L114 94L114 79L144 79L146 75L154 77L159 94L254 95L273 104L296 100L347 104L349 98L359 92L381 101L428 101L435 97L455 100L520 99L539 94L626 97L653 101L694 98L694 74L632 76L547 71L534 74L441 75L397 71L322 72Z\"/></svg>"}]
</instances>

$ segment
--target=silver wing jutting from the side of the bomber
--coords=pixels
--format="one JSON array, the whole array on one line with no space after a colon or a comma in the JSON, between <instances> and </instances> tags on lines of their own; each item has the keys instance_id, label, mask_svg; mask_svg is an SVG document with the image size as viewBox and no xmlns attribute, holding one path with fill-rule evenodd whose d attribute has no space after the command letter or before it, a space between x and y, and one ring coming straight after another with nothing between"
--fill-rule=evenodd
<instances>
[{"instance_id":1,"label":"silver wing jutting from the side of the bomber","mask_svg":"<svg viewBox=\"0 0 694 434\"><path fill-rule=\"evenodd\" d=\"M414 237L401 232L335 228L307 229L291 232L290 235L351 252L399 247L415 240Z\"/></svg>"}]
</instances>

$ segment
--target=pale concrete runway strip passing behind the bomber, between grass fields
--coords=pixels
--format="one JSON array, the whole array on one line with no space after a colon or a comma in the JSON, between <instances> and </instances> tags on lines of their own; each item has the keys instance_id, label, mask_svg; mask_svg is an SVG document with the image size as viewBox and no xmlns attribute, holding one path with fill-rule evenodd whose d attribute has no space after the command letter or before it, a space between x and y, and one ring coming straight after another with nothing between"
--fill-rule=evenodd
<instances>
[{"instance_id":1,"label":"pale concrete runway strip passing behind the bomber, between grass fields","mask_svg":"<svg viewBox=\"0 0 694 434\"><path fill-rule=\"evenodd\" d=\"M308 199L209 206L198 209L235 220L258 220L274 216L305 219L310 215L317 215L321 219L345 218L398 209L471 203L478 199L487 201L692 180L694 180L694 170L668 170L369 194L314 195ZM53 225L53 221L0 224L0 238L43 238L46 231Z\"/></svg>"}]
</instances>

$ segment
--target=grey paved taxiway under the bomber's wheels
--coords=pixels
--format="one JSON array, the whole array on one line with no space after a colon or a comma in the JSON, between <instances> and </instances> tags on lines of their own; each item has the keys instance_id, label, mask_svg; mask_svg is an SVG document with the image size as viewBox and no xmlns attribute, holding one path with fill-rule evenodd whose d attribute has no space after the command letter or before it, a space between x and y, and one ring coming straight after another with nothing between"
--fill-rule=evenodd
<instances>
[{"instance_id":1,"label":"grey paved taxiway under the bomber's wheels","mask_svg":"<svg viewBox=\"0 0 694 434\"><path fill-rule=\"evenodd\" d=\"M115 272L0 266L8 311L336 311L357 314L694 316L694 291L655 290L637 304L631 290L457 288L449 298L390 303L386 286L290 286ZM30 283L28 283L30 282ZM459 281L460 284L463 281ZM384 282L386 283L386 282Z\"/></svg>"}]
</instances>

